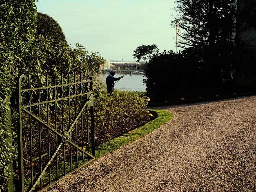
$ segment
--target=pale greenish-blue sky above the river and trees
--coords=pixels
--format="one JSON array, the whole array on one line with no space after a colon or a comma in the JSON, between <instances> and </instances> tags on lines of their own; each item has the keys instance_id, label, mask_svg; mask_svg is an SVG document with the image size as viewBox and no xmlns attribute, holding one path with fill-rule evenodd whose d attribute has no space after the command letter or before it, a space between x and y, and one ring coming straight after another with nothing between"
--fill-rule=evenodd
<instances>
[{"instance_id":1,"label":"pale greenish-blue sky above the river and trees","mask_svg":"<svg viewBox=\"0 0 256 192\"><path fill-rule=\"evenodd\" d=\"M174 0L38 0L35 5L59 23L71 47L79 43L104 59L135 61L133 51L141 45L176 50Z\"/></svg>"}]
</instances>

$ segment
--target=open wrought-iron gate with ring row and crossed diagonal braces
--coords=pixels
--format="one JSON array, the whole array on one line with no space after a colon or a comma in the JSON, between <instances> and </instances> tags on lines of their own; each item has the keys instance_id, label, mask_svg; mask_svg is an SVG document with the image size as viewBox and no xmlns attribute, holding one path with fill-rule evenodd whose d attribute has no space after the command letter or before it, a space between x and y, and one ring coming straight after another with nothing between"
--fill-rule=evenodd
<instances>
[{"instance_id":1,"label":"open wrought-iron gate with ring row and crossed diagonal braces","mask_svg":"<svg viewBox=\"0 0 256 192\"><path fill-rule=\"evenodd\" d=\"M92 77L42 77L18 81L15 191L43 191L95 158Z\"/></svg>"}]
</instances>

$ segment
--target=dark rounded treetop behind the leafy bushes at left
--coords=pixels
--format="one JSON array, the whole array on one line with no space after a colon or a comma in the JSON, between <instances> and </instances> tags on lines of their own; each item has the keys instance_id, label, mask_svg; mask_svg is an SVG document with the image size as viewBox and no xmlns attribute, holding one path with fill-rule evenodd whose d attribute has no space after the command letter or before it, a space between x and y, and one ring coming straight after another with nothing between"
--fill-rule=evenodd
<instances>
[{"instance_id":1,"label":"dark rounded treetop behind the leafy bushes at left","mask_svg":"<svg viewBox=\"0 0 256 192\"><path fill-rule=\"evenodd\" d=\"M61 26L51 16L37 13L37 34L53 39L54 42L65 42L66 37Z\"/></svg>"}]
</instances>

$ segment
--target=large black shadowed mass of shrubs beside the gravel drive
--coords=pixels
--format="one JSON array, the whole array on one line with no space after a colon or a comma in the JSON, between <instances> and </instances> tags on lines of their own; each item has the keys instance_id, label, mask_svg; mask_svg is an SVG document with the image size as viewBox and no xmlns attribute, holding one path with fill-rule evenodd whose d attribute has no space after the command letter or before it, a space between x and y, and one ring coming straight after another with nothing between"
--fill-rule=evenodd
<instances>
[{"instance_id":1,"label":"large black shadowed mass of shrubs beside the gravel drive","mask_svg":"<svg viewBox=\"0 0 256 192\"><path fill-rule=\"evenodd\" d=\"M237 84L255 76L255 58L255 51L242 43L159 53L145 68L143 82L152 101L232 94Z\"/></svg>"}]
</instances>

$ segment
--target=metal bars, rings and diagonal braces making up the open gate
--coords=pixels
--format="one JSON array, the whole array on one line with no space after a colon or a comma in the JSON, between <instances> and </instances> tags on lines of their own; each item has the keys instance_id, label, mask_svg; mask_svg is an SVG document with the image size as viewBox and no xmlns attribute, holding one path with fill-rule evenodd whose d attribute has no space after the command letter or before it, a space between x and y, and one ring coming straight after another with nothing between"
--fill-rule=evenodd
<instances>
[{"instance_id":1,"label":"metal bars, rings and diagonal braces making up the open gate","mask_svg":"<svg viewBox=\"0 0 256 192\"><path fill-rule=\"evenodd\" d=\"M75 74L75 73L74 73ZM92 77L90 77L87 80L87 73L85 74L86 76L86 81L81 81L82 80L82 75L81 75L81 71L80 71L80 81L76 82L76 75L74 75L74 82L70 83L70 75L68 73L68 83L67 84L63 84L63 75L61 75L61 84L57 85L56 82L56 75L54 74L53 77L53 86L48 86L48 74L46 74L46 86L45 87L40 87L40 80L39 80L39 74L37 76L37 86L38 88L30 88L30 76L28 77L28 87L29 89L21 89L21 82L25 82L26 77L25 75L21 75L19 78L18 83L18 90L19 90L19 99L17 101L19 109L19 121L18 121L18 127L20 128L20 131L18 131L18 136L19 136L19 140L18 140L18 149L20 149L20 152L18 153L18 157L19 157L19 180L20 180L20 184L18 185L18 187L16 189L18 189L19 191L24 191L24 170L23 170L23 144L22 144L22 121L21 121L21 113L22 111L24 111L26 114L28 114L29 116L29 122L30 122L30 126L29 126L29 137L30 137L30 163L31 163L31 174L30 174L30 179L31 179L31 184L28 187L27 191L33 191L35 186L37 186L37 183L40 181L40 189L46 189L48 188L51 184L54 184L55 182L57 182L59 180L59 171L58 171L58 155L56 155L59 151L59 149L61 148L61 146L63 146L63 154L64 154L64 176L67 175L66 173L66 168L65 168L65 148L64 145L62 145L64 142L59 140L59 137L64 138L64 136L70 135L71 136L71 130L73 129L73 127L75 126L75 143L72 142L69 138L65 140L65 143L69 143L69 147L70 147L70 171L68 172L68 175L73 173L74 171L76 171L77 169L81 168L82 166L86 165L87 163L91 162L92 160L95 159L95 141L94 141L94 115L93 115L93 89L92 89ZM68 86L68 94L65 95L65 87ZM72 87L73 86L73 87ZM60 96L57 96L57 88L61 88L62 94ZM50 89L53 89L54 91L54 98L50 98L49 97L49 93L50 93ZM74 88L74 93L71 92L72 88ZM84 88L86 88L85 90L83 90ZM79 91L77 91L77 89L79 89ZM38 101L36 101L35 103L33 103L32 101L32 94L33 91L37 90L38 93ZM42 101L44 99L41 98L41 93L42 90L46 90L44 91L44 94L47 94L47 99L45 101ZM23 105L22 103L22 94L28 92L29 94L29 102L27 105ZM37 94L36 93L36 94ZM83 95L85 95L86 97L83 97ZM36 99L37 99L36 97ZM43 98L45 97L45 95L43 95ZM59 98L58 98L59 97ZM70 99L73 98L75 99L75 117L73 118L73 120L71 121L70 117ZM79 108L79 110L77 111L77 97L81 98L81 106ZM84 99L83 99L84 98ZM68 123L68 127L64 128L64 116L63 116L63 103L64 103L64 99L68 100L68 115L69 115L69 123ZM57 108L56 108L56 104L57 101L61 101L61 108L62 108L62 119L61 119L61 130L63 133L59 133L59 131L57 131ZM53 128L52 126L49 125L49 103L50 102L54 102L54 117L55 117L55 124ZM32 104L33 103L33 104ZM46 122L44 120L41 119L41 104L46 104L46 108L47 108L47 120ZM37 106L38 109L38 116L35 115L34 113L32 113L31 111L31 107L32 106ZM87 106L87 108L86 108ZM81 117L81 125L83 127L83 110L86 108L86 112L87 112L87 125L89 125L88 122L88 108L90 107L91 110L91 137L92 137L92 143L91 143L91 149L92 149L92 154L89 153L90 150L90 144L89 144L89 126L87 126L87 139L88 139L88 151L84 150L84 140L83 140L83 136L82 136L82 148L81 146L78 146L78 140L77 140L77 120ZM32 126L31 126L31 122L32 122L32 118L35 119L38 124L39 124L39 156L36 158L33 158L33 154L32 154ZM93 126L93 127L92 127ZM47 152L42 154L42 146L41 146L41 129L45 127L47 130ZM50 131L52 131L55 134L55 148L54 151L52 151L52 153L50 153ZM83 128L81 129L82 131L82 135L83 135ZM66 134L66 135L65 135ZM70 137L71 138L71 137ZM77 158L77 166L75 169L72 169L72 146L75 147L76 150L76 158ZM83 155L83 164L78 164L78 151L82 152ZM46 161L44 163L44 165L42 164L42 157L48 155L48 162ZM84 155L88 156L88 161L84 162ZM56 157L56 169L57 169L57 173L56 173L56 181L51 182L51 162L52 160ZM41 172L37 173L35 175L35 179L33 179L33 161L38 160L39 159L39 163L40 163L40 170ZM48 178L49 178L49 186L48 187L44 187L43 188L43 183L42 183L42 175L45 173L46 170L49 170L48 173Z\"/></svg>"}]
</instances>

